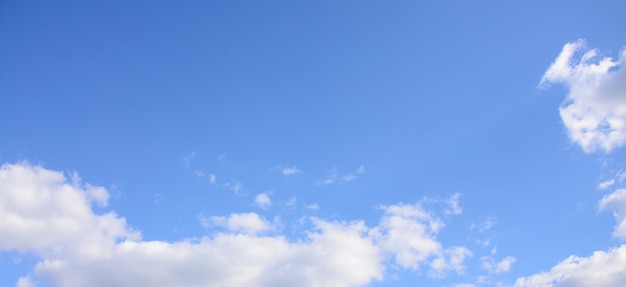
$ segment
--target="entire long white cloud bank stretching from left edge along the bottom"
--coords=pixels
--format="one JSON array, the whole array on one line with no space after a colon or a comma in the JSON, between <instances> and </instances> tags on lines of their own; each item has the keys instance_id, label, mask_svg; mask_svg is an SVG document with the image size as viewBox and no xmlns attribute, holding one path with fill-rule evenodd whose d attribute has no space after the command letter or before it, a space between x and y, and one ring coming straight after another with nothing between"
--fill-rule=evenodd
<instances>
[{"instance_id":1,"label":"entire long white cloud bank stretching from left edge along the bottom","mask_svg":"<svg viewBox=\"0 0 626 287\"><path fill-rule=\"evenodd\" d=\"M27 163L0 169L0 251L40 257L16 286L364 286L383 280L389 264L463 272L471 252L444 248L443 221L420 203L383 207L380 223L311 218L293 240L267 235L258 214L208 217L225 231L177 242L142 241L124 218L95 213L108 192Z\"/></svg>"}]
</instances>

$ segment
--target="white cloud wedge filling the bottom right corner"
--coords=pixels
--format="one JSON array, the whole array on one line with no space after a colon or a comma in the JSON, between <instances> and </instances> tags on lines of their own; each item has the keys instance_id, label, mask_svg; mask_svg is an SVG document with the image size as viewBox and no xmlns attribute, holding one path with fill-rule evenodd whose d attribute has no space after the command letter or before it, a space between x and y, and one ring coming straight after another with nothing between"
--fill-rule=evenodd
<instances>
[{"instance_id":1,"label":"white cloud wedge filling the bottom right corner","mask_svg":"<svg viewBox=\"0 0 626 287\"><path fill-rule=\"evenodd\" d=\"M602 286L622 287L626 282L626 245L596 251L589 257L570 256L548 272L522 277L516 287Z\"/></svg>"}]
</instances>

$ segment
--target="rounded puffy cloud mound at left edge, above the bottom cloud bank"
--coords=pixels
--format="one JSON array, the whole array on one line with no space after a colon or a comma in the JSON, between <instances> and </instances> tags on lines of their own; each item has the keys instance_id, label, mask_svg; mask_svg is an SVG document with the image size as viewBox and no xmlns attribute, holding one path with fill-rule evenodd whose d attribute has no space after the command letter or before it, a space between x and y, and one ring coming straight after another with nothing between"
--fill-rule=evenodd
<instances>
[{"instance_id":1,"label":"rounded puffy cloud mound at left edge, above the bottom cloud bank","mask_svg":"<svg viewBox=\"0 0 626 287\"><path fill-rule=\"evenodd\" d=\"M100 256L119 238L139 234L124 218L94 214L91 202L105 203L103 188L68 182L60 172L28 163L0 168L0 250L81 252Z\"/></svg>"}]
</instances>

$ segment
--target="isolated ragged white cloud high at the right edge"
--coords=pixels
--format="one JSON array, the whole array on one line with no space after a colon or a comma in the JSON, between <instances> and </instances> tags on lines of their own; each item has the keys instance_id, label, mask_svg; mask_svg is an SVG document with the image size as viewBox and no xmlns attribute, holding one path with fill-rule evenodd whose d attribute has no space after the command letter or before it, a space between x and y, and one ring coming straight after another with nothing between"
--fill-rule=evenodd
<instances>
[{"instance_id":1,"label":"isolated ragged white cloud high at the right edge","mask_svg":"<svg viewBox=\"0 0 626 287\"><path fill-rule=\"evenodd\" d=\"M541 78L540 86L562 83L568 95L560 114L570 139L585 152L610 152L626 143L626 59L598 57L579 40L567 43Z\"/></svg>"}]
</instances>

